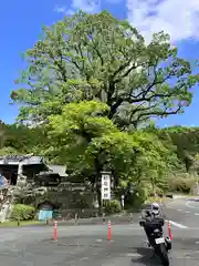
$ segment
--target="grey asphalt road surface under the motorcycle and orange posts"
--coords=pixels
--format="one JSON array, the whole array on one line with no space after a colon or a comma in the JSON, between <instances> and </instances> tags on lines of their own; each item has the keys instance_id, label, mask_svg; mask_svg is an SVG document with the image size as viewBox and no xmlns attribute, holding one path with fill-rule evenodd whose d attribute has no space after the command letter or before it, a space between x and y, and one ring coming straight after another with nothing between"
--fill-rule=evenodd
<instances>
[{"instance_id":1,"label":"grey asphalt road surface under the motorcycle and orange posts","mask_svg":"<svg viewBox=\"0 0 199 266\"><path fill-rule=\"evenodd\" d=\"M165 212L174 235L170 265L199 265L199 202L178 200ZM52 241L51 226L0 227L0 262L6 266L160 265L150 258L137 222L138 215L133 223L127 217L114 218L112 242L107 242L107 226L102 223L60 226L57 242Z\"/></svg>"}]
</instances>

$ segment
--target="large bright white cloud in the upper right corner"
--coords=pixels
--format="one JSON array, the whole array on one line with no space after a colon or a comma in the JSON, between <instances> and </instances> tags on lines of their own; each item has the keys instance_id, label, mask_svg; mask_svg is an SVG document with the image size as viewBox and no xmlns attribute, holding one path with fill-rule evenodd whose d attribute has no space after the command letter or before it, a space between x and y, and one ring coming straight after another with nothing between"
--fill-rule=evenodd
<instances>
[{"instance_id":1,"label":"large bright white cloud in the upper right corner","mask_svg":"<svg viewBox=\"0 0 199 266\"><path fill-rule=\"evenodd\" d=\"M198 39L199 0L126 0L127 19L147 39L164 30L172 42Z\"/></svg>"}]
</instances>

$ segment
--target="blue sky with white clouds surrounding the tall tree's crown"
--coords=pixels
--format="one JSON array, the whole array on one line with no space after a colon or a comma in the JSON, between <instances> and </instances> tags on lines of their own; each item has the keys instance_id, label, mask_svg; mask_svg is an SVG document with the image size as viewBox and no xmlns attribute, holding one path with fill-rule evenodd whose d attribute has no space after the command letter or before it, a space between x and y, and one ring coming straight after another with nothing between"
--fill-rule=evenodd
<instances>
[{"instance_id":1,"label":"blue sky with white clouds surrounding the tall tree's crown","mask_svg":"<svg viewBox=\"0 0 199 266\"><path fill-rule=\"evenodd\" d=\"M21 53L31 48L41 34L42 25L50 25L76 9L95 12L107 9L119 19L128 19L149 39L164 30L178 47L179 55L191 62L199 59L198 0L2 0L0 8L0 120L12 123L18 106L10 105L10 91L24 62ZM179 12L178 12L179 11ZM153 14L153 16L151 16ZM185 114L159 121L160 125L199 125L197 111L199 92Z\"/></svg>"}]
</instances>

